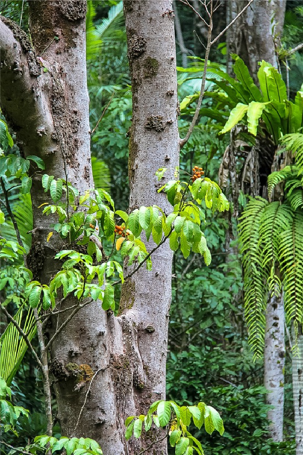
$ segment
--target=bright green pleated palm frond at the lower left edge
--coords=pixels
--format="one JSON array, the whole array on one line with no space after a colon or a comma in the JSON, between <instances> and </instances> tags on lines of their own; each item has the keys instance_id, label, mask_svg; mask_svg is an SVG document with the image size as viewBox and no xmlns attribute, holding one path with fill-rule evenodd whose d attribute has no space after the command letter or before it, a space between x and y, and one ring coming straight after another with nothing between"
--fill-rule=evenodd
<instances>
[{"instance_id":1,"label":"bright green pleated palm frond at the lower left edge","mask_svg":"<svg viewBox=\"0 0 303 455\"><path fill-rule=\"evenodd\" d=\"M27 334L28 339L32 340L36 333L35 316L33 309L29 308L23 322L25 311L23 304L15 314L14 319L23 332ZM8 385L12 382L26 350L27 344L24 338L19 335L16 327L9 323L0 338L0 376Z\"/></svg>"}]
</instances>

